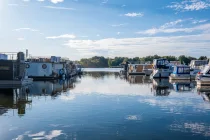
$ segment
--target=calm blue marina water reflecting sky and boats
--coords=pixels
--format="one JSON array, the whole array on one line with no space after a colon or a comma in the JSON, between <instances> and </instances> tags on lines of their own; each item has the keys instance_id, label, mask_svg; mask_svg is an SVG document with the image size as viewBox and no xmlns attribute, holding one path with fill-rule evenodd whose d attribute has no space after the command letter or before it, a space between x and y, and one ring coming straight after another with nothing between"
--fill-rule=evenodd
<instances>
[{"instance_id":1,"label":"calm blue marina water reflecting sky and boats","mask_svg":"<svg viewBox=\"0 0 210 140\"><path fill-rule=\"evenodd\" d=\"M116 69L86 71L68 82L1 89L0 139L210 139L210 91Z\"/></svg>"}]
</instances>

